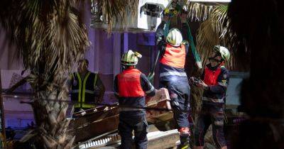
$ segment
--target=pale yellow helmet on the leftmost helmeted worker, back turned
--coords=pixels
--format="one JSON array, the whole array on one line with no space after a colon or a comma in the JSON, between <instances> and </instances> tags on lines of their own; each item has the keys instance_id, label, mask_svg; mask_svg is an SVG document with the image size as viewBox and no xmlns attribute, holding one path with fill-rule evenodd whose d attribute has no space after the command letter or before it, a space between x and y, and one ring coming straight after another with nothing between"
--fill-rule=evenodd
<instances>
[{"instance_id":1,"label":"pale yellow helmet on the leftmost helmeted worker, back turned","mask_svg":"<svg viewBox=\"0 0 284 149\"><path fill-rule=\"evenodd\" d=\"M141 58L142 55L137 52L133 52L132 50L128 50L124 55L121 57L121 64L122 65L137 65L138 58Z\"/></svg>"}]
</instances>

